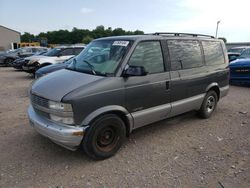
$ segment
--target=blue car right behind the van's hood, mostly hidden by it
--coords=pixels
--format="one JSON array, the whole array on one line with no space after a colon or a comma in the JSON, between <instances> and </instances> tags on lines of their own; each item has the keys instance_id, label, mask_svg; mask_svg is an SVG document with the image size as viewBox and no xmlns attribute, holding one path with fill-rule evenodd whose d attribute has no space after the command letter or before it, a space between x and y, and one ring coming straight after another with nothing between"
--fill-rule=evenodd
<instances>
[{"instance_id":1,"label":"blue car right behind the van's hood, mostly hidden by it","mask_svg":"<svg viewBox=\"0 0 250 188\"><path fill-rule=\"evenodd\" d=\"M72 58L74 58L74 57L72 57ZM45 76L45 75L52 73L52 72L55 72L57 70L61 70L61 69L66 68L70 63L72 63L72 58L64 61L63 63L56 63L53 65L48 65L48 66L45 66L45 67L38 69L35 72L35 79L38 79L42 76Z\"/></svg>"}]
</instances>

